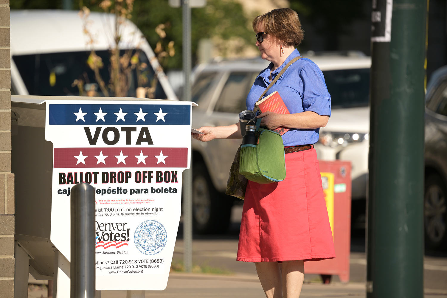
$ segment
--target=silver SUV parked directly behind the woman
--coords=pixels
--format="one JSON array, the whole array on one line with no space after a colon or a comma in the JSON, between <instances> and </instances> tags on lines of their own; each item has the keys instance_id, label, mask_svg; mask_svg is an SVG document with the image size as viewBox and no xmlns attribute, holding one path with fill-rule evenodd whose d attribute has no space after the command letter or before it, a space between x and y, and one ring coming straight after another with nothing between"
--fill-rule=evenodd
<instances>
[{"instance_id":1,"label":"silver SUV parked directly behind the woman","mask_svg":"<svg viewBox=\"0 0 447 298\"><path fill-rule=\"evenodd\" d=\"M353 199L366 197L369 131L369 70L371 59L358 52L307 53L323 71L332 97L332 117L320 130L315 145L319 159L350 160L353 164ZM199 66L192 101L193 127L230 125L246 109L245 99L268 61L249 59ZM233 199L225 197L229 168L240 140L193 142L194 228L207 233L228 227Z\"/></svg>"}]
</instances>

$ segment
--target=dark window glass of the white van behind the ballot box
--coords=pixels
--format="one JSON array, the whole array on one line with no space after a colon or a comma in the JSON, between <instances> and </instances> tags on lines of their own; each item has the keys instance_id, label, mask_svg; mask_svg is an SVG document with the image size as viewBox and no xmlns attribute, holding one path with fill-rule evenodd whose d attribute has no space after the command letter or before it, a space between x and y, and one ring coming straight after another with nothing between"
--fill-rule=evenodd
<instances>
[{"instance_id":1,"label":"dark window glass of the white van behind the ballot box","mask_svg":"<svg viewBox=\"0 0 447 298\"><path fill-rule=\"evenodd\" d=\"M136 53L131 51L130 57ZM97 81L101 76L104 86L110 84L110 51L98 50L95 54L101 57L102 67L97 74L88 62L89 51L48 53L33 55L15 55L13 61L25 83L30 95L47 96L105 96ZM125 54L121 50L120 55ZM138 50L134 60L127 67L127 97L136 97L136 88L143 87L153 98L166 99L166 94L159 81L154 81L154 71L148 57ZM135 59L138 58L138 59ZM120 60L121 64L125 61ZM132 65L133 63L133 65ZM155 90L152 84L155 83ZM114 96L108 88L109 96Z\"/></svg>"}]
</instances>

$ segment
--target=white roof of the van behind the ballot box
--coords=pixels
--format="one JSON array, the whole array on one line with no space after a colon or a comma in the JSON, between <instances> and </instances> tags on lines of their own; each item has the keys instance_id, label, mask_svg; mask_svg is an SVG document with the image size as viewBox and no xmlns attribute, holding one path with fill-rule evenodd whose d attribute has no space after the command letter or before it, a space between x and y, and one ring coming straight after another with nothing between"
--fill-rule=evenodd
<instances>
[{"instance_id":1,"label":"white roof of the van behind the ballot box","mask_svg":"<svg viewBox=\"0 0 447 298\"><path fill-rule=\"evenodd\" d=\"M11 11L11 55L91 50L83 32L78 11ZM107 50L113 44L114 14L90 13L88 29L93 34L95 50ZM120 48L135 48L144 40L131 21L122 25Z\"/></svg>"}]
</instances>

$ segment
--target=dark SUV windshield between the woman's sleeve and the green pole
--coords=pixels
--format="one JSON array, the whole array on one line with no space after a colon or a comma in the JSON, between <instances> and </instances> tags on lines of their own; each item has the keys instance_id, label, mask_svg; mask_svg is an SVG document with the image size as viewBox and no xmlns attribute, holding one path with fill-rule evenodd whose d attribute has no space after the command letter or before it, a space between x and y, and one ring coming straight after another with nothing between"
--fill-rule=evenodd
<instances>
[{"instance_id":1,"label":"dark SUV windshield between the woman's sleeve and the green pole","mask_svg":"<svg viewBox=\"0 0 447 298\"><path fill-rule=\"evenodd\" d=\"M323 74L333 109L368 106L369 68L323 71Z\"/></svg>"}]
</instances>

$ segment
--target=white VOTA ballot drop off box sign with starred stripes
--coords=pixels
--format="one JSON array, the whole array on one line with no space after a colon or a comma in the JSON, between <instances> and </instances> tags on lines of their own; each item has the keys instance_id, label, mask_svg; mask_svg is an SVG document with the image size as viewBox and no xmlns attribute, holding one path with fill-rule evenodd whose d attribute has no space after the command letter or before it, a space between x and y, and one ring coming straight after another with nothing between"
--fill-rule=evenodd
<instances>
[{"instance_id":1,"label":"white VOTA ballot drop off box sign with starred stripes","mask_svg":"<svg viewBox=\"0 0 447 298\"><path fill-rule=\"evenodd\" d=\"M164 290L190 167L191 102L47 101L51 242L70 260L70 189L96 193L96 289Z\"/></svg>"}]
</instances>

